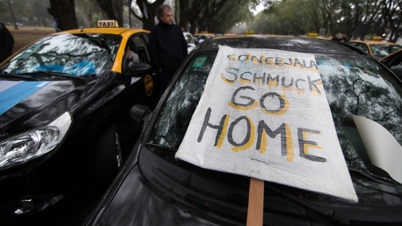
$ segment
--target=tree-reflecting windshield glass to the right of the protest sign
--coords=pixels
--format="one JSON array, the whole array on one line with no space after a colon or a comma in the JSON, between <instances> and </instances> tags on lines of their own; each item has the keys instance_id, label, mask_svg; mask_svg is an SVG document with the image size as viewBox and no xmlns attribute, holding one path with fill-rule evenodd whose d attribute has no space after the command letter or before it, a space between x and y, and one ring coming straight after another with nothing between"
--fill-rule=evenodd
<instances>
[{"instance_id":1,"label":"tree-reflecting windshield glass to the right of the protest sign","mask_svg":"<svg viewBox=\"0 0 402 226\"><path fill-rule=\"evenodd\" d=\"M343 56L317 58L336 127L356 114L385 127L402 145L401 85L380 65Z\"/></svg>"}]
</instances>

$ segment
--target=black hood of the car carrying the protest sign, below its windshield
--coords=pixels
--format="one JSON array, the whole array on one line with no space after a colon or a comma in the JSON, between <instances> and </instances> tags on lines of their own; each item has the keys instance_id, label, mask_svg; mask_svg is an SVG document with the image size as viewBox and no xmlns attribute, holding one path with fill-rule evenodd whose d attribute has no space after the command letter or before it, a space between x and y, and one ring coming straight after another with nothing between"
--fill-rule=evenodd
<instances>
[{"instance_id":1,"label":"black hood of the car carrying the protest sign, below its windshield","mask_svg":"<svg viewBox=\"0 0 402 226\"><path fill-rule=\"evenodd\" d=\"M137 165L128 172L119 192L97 222L88 222L88 225L217 225L177 205L155 194Z\"/></svg>"}]
</instances>

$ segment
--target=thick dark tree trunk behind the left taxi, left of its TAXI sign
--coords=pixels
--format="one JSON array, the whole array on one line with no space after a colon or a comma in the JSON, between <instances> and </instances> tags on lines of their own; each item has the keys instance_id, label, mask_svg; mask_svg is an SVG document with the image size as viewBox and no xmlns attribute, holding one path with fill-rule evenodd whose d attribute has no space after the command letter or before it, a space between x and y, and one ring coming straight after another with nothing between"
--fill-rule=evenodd
<instances>
[{"instance_id":1,"label":"thick dark tree trunk behind the left taxi, left of its TAXI sign","mask_svg":"<svg viewBox=\"0 0 402 226\"><path fill-rule=\"evenodd\" d=\"M57 22L60 30L78 28L74 0L50 0L48 12Z\"/></svg>"}]
</instances>

